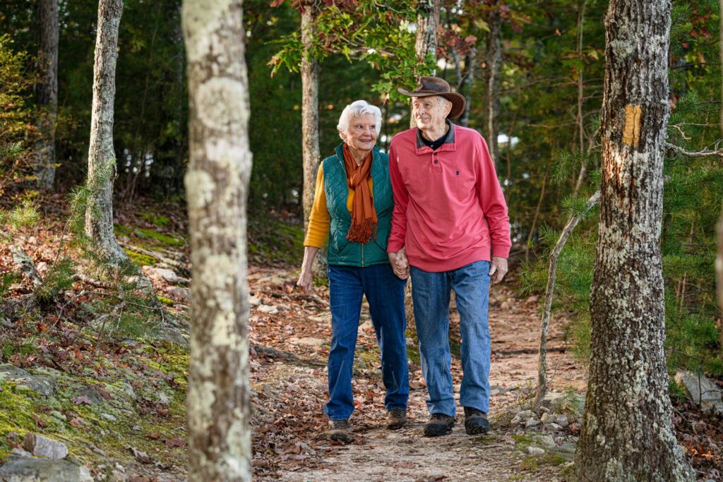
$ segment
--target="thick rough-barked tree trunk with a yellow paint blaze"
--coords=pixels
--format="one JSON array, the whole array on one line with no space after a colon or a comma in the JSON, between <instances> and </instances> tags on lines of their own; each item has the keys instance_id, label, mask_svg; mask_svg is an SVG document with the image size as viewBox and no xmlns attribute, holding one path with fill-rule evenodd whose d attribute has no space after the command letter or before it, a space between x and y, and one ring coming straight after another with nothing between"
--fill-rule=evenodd
<instances>
[{"instance_id":1,"label":"thick rough-barked tree trunk with a yellow paint blaze","mask_svg":"<svg viewBox=\"0 0 723 482\"><path fill-rule=\"evenodd\" d=\"M670 0L611 0L581 481L692 481L672 429L660 233Z\"/></svg>"}]
</instances>

